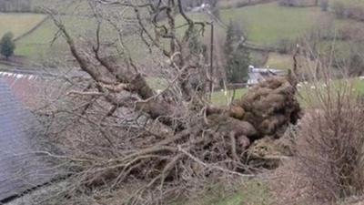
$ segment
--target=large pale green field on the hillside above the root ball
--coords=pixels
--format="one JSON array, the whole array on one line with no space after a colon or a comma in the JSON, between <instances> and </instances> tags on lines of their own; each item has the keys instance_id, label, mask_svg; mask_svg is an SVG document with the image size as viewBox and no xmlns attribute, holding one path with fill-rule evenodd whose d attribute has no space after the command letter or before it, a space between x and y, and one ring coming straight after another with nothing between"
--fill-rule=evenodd
<instances>
[{"instance_id":1,"label":"large pale green field on the hillside above the root ball","mask_svg":"<svg viewBox=\"0 0 364 205\"><path fill-rule=\"evenodd\" d=\"M225 23L237 21L248 33L248 41L258 45L275 46L281 39L294 40L315 25L322 12L319 7L296 8L278 3L222 9Z\"/></svg>"}]
</instances>

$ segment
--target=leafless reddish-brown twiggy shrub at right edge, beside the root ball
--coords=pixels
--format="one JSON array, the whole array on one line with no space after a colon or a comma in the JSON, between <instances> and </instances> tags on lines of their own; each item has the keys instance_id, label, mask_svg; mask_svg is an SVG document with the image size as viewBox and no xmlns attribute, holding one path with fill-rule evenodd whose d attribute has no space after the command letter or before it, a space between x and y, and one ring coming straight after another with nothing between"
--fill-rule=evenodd
<instances>
[{"instance_id":1,"label":"leafless reddish-brown twiggy shrub at right edge, beside the root ball","mask_svg":"<svg viewBox=\"0 0 364 205\"><path fill-rule=\"evenodd\" d=\"M315 95L319 109L302 124L298 161L303 174L320 190L319 197L338 200L364 188L364 109L352 87L330 89L322 97Z\"/></svg>"}]
</instances>

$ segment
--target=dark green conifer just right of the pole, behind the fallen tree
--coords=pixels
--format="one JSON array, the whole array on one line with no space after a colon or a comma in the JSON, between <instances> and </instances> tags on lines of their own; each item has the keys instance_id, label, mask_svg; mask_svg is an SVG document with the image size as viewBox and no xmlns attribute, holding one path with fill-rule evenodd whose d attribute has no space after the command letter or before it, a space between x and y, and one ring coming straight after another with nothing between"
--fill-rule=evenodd
<instances>
[{"instance_id":1,"label":"dark green conifer just right of the pole, behind the fallen tree","mask_svg":"<svg viewBox=\"0 0 364 205\"><path fill-rule=\"evenodd\" d=\"M225 43L228 83L243 83L247 80L250 57L248 49L242 45L244 39L243 32L238 24L230 21L227 26L227 40Z\"/></svg>"}]
</instances>

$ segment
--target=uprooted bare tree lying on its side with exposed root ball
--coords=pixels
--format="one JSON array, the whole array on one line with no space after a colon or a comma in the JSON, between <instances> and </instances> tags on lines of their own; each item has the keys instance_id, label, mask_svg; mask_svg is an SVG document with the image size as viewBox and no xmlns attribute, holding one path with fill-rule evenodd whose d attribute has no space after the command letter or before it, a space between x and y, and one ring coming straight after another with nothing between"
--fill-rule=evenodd
<instances>
[{"instance_id":1,"label":"uprooted bare tree lying on its side with exposed root ball","mask_svg":"<svg viewBox=\"0 0 364 205\"><path fill-rule=\"evenodd\" d=\"M181 0L87 4L96 22L88 39L72 36L48 10L88 75L67 79L70 89L61 103L46 110L52 118L47 134L62 153L50 156L63 161L73 181L68 199L85 188L117 190L137 180L143 183L128 203L153 204L190 189L199 178L251 175L250 145L280 138L296 123L293 75L268 79L228 107L212 106L215 77L203 49L190 52L188 46L192 34L202 36L209 24L188 17ZM143 56L130 54L130 36L145 44L146 57L157 56L157 68L137 66ZM163 89L152 88L151 78L162 79Z\"/></svg>"}]
</instances>

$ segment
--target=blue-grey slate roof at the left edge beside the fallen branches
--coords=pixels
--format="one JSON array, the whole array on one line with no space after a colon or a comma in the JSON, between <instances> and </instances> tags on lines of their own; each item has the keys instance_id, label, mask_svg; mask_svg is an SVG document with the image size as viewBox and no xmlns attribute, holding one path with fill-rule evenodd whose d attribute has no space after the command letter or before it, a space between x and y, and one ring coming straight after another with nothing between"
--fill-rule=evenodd
<instances>
[{"instance_id":1,"label":"blue-grey slate roof at the left edge beside the fallen branches","mask_svg":"<svg viewBox=\"0 0 364 205\"><path fill-rule=\"evenodd\" d=\"M0 204L52 178L49 165L35 153L41 145L40 128L20 96L0 77Z\"/></svg>"}]
</instances>

